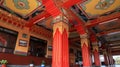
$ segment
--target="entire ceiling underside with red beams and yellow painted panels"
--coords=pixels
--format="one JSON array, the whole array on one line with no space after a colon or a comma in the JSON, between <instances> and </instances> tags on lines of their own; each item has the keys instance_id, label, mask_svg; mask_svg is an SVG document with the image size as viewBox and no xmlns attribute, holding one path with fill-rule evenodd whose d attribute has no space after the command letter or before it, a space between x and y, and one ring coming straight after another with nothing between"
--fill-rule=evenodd
<instances>
[{"instance_id":1,"label":"entire ceiling underside with red beams and yellow painted panels","mask_svg":"<svg viewBox=\"0 0 120 67\"><path fill-rule=\"evenodd\" d=\"M0 0L0 8L25 20L26 26L37 25L49 32L55 14L62 12L70 20L72 44L80 46L79 34L74 29L80 21L102 44L108 43L113 51L120 48L120 0Z\"/></svg>"}]
</instances>

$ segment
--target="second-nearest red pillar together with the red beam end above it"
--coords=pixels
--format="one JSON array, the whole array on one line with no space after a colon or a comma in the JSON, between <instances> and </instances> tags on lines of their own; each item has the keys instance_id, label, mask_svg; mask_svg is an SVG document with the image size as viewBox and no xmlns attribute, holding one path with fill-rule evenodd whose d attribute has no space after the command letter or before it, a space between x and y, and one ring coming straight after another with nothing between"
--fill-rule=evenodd
<instances>
[{"instance_id":1,"label":"second-nearest red pillar together with the red beam end above it","mask_svg":"<svg viewBox=\"0 0 120 67\"><path fill-rule=\"evenodd\" d=\"M86 29L83 25L77 24L75 25L77 32L80 34L81 38L81 50L82 50L82 60L84 67L91 67L91 55L89 49L89 40L88 34L86 33Z\"/></svg>"}]
</instances>

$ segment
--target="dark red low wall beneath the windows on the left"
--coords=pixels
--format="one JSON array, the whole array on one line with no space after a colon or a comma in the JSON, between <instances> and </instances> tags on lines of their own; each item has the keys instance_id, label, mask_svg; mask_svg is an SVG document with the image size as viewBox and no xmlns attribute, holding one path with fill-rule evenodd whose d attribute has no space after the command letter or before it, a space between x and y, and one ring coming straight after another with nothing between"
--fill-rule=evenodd
<instances>
[{"instance_id":1,"label":"dark red low wall beneath the windows on the left","mask_svg":"<svg viewBox=\"0 0 120 67\"><path fill-rule=\"evenodd\" d=\"M42 60L45 61L46 65L51 65L51 59L47 58L39 58L33 56L19 56L14 54L0 53L0 60L6 59L8 60L9 65L28 65L33 60L35 65L40 65Z\"/></svg>"}]
</instances>

